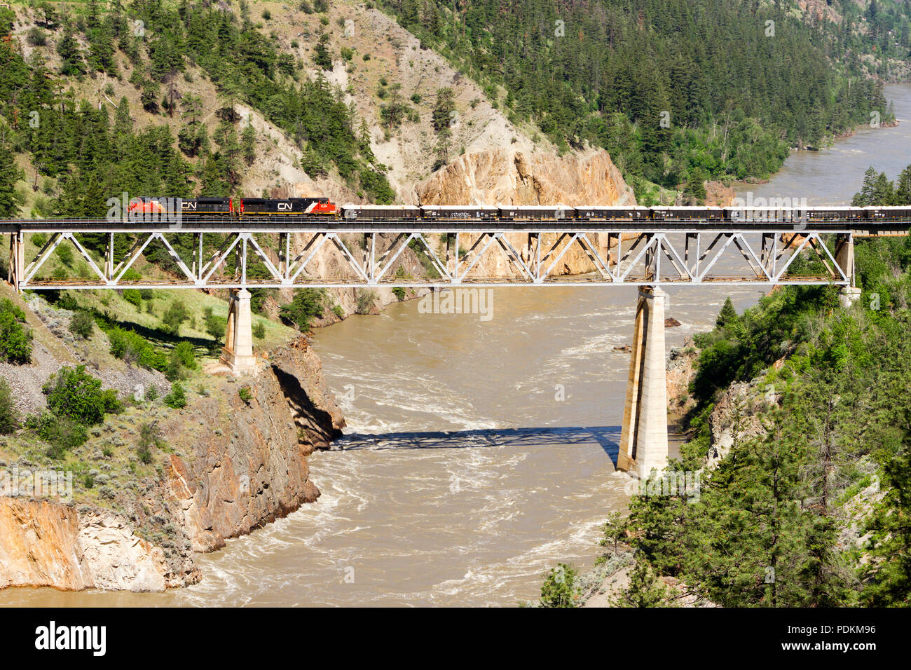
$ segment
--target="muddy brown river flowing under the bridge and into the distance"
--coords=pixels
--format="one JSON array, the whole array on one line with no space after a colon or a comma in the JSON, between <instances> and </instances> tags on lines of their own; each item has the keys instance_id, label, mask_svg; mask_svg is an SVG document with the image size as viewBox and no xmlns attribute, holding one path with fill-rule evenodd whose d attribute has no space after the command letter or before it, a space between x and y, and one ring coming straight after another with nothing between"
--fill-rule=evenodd
<instances>
[{"instance_id":1,"label":"muddy brown river flowing under the bridge and into the distance","mask_svg":"<svg viewBox=\"0 0 911 670\"><path fill-rule=\"evenodd\" d=\"M911 86L887 87L911 119ZM911 163L911 123L794 153L746 197L850 201L873 164ZM667 345L711 327L753 287L670 287ZM322 497L200 556L169 593L8 589L0 605L515 605L557 562L589 568L622 509L615 472L636 290L499 288L490 319L419 314L416 301L318 332L345 437L311 459ZM562 399L559 399L562 397Z\"/></svg>"}]
</instances>

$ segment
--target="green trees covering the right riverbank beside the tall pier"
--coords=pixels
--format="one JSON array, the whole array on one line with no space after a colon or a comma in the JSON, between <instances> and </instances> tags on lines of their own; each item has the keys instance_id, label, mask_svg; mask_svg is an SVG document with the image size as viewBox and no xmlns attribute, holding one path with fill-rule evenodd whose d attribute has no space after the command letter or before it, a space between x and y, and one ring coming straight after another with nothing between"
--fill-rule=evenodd
<instances>
[{"instance_id":1,"label":"green trees covering the right riverbank beside the tall pier","mask_svg":"<svg viewBox=\"0 0 911 670\"><path fill-rule=\"evenodd\" d=\"M871 168L856 198L911 204L909 180L911 166L897 190ZM673 603L663 575L724 606L911 605L911 237L855 244L850 309L834 286L780 286L743 314L728 300L696 337L692 437L670 470L717 448L710 415L732 383L757 380L758 396L735 401L733 444L698 496L635 495L606 524L603 544L636 551L619 604ZM741 433L750 417L761 428Z\"/></svg>"}]
</instances>

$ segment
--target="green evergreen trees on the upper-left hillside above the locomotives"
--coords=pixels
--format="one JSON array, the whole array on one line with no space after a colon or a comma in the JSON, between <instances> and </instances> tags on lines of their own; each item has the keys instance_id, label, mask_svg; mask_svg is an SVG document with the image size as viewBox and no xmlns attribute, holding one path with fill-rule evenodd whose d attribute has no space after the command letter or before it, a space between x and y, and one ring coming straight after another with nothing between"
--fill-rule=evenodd
<instances>
[{"instance_id":1,"label":"green evergreen trees on the upper-left hillside above the locomotives","mask_svg":"<svg viewBox=\"0 0 911 670\"><path fill-rule=\"evenodd\" d=\"M363 119L355 118L322 77L301 79L301 64L262 36L246 9L238 16L216 5L136 0L126 6L114 0L102 13L89 0L85 13L75 15L55 6L41 5L45 20L28 39L40 45L46 31L59 36L59 72L48 71L41 57L26 63L15 40L0 43L0 178L5 177L0 179L0 215L15 209L10 179L21 175L11 154L19 152L31 156L42 176L56 179L42 185L36 177L36 187L46 193L36 213L44 216L97 214L107 209L110 194L122 191L184 197L236 192L244 164L255 157L254 131L240 127L237 102L257 108L284 129L303 156L321 157L305 167L312 176L334 167L370 200L394 200ZM11 32L14 18L12 11L0 9L0 34ZM85 38L87 51L75 36ZM187 119L177 138L165 126L135 129L126 98L112 114L67 89L61 77L79 80L101 72L118 77L117 50L132 64L130 82L141 89L148 111L181 111ZM199 120L200 99L190 95L178 101L174 95L191 65L200 67L220 93L220 125L211 137Z\"/></svg>"}]
</instances>

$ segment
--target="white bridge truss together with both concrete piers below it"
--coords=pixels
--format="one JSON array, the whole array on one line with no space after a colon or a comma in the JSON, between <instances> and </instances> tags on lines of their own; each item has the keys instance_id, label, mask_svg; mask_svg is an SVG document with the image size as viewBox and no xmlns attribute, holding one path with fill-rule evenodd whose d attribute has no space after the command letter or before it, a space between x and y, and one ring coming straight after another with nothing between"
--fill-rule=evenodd
<instances>
[{"instance_id":1,"label":"white bridge truss together with both concrete piers below it","mask_svg":"<svg viewBox=\"0 0 911 670\"><path fill-rule=\"evenodd\" d=\"M435 229L435 234L445 235L445 254L437 253L427 242L426 231L415 230L414 226L401 226L391 222L383 230L363 232L331 230L325 225L317 230L248 230L238 229L242 222L230 230L187 230L179 224L168 230L137 230L126 225L117 230L107 230L107 253L104 259L95 259L77 240L78 232L98 232L97 229L60 229L51 226L50 237L36 257L26 264L25 235L31 233L20 229L11 235L10 281L17 290L25 289L98 289L98 288L227 288L231 290L225 346L221 362L238 373L245 374L256 369L253 355L251 332L251 306L249 288L281 287L370 287L392 286L518 286L518 285L637 285L640 294L636 305L636 319L633 345L630 356L630 375L627 385L626 405L623 412L620 449L617 467L630 474L647 478L652 471L660 473L668 459L667 386L664 351L664 304L665 293L662 283L675 285L701 285L702 283L758 284L828 284L842 287L842 303L851 304L858 297L854 286L854 232L849 228L835 229L831 224L812 229L756 230L755 228L732 228L731 224L703 223L692 225L669 224L670 227L656 230L630 230L629 226L605 229L598 226L591 230L587 222L567 222L566 227L557 230L542 230L537 225L532 230L506 229L497 222L473 222L466 228L477 234L476 240L464 254L459 254L459 236L465 229ZM445 224L444 224L445 225ZM450 224L451 225L451 224ZM573 229L572 226L578 226ZM438 232L437 232L438 231ZM39 232L39 231L35 231ZM203 253L204 232L227 233L220 249L208 258ZM279 234L275 249L278 263L273 263L265 253L265 243L257 236L266 233ZM384 233L393 233L394 240L381 253L377 242L383 241ZM527 242L524 253L507 237L507 232L524 232ZM556 232L552 244L542 241L542 232ZM623 235L635 234L635 239L624 247ZM598 240L593 237L601 233L608 235L608 254L602 257ZM137 235L130 251L122 259L115 257L115 236L118 234ZM292 255L292 234L310 235L299 253ZM361 249L353 249L342 234L363 235ZM863 234L863 232L861 233ZM193 257L184 259L175 251L169 236L193 235ZM754 237L753 243L748 239ZM834 236L834 252L826 244L825 236ZM261 244L260 242L264 242ZM123 281L128 269L152 242L162 244L183 276L175 280ZM417 242L437 276L420 280L403 281L389 272L399 256L411 242ZM564 244L564 242L566 242ZM37 280L41 266L61 243L70 243L87 262L96 277L91 280ZM591 275L558 276L554 273L558 263L568 249L578 244L595 268ZM316 254L326 245L334 248L346 264L348 276L340 279L327 277L323 265L311 264ZM562 248L561 248L562 245ZM826 273L816 277L792 277L788 268L804 250L815 253L824 265ZM614 252L614 253L611 253ZM225 274L226 261L234 254L234 268L230 277L216 276L220 269ZM499 253L509 263L515 276L478 277L472 274L486 253ZM247 266L250 255L261 260L270 274L267 281L250 280ZM740 258L750 268L746 276L725 276L711 273L712 268L725 256ZM97 262L98 261L98 262ZM101 269L101 266L104 269Z\"/></svg>"}]
</instances>

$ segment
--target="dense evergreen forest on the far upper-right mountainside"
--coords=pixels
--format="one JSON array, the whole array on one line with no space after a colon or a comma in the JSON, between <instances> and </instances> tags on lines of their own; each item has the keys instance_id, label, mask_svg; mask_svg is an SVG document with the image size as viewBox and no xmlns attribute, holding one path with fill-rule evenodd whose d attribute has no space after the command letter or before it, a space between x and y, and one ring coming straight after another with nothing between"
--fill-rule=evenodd
<instances>
[{"instance_id":1,"label":"dense evergreen forest on the far upper-right mountainside","mask_svg":"<svg viewBox=\"0 0 911 670\"><path fill-rule=\"evenodd\" d=\"M499 103L513 119L534 122L562 146L588 140L608 149L640 200L642 179L674 187L765 177L790 147L819 147L826 137L869 123L872 111L880 121L890 119L881 85L860 77L857 57L841 64L841 73L827 57L840 59L849 37L804 25L784 4L382 5L476 78L489 97L505 87ZM891 16L881 12L884 30ZM850 41L869 48L868 40Z\"/></svg>"}]
</instances>

